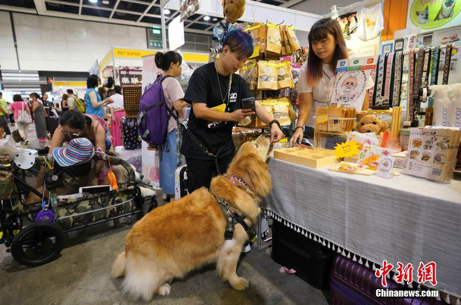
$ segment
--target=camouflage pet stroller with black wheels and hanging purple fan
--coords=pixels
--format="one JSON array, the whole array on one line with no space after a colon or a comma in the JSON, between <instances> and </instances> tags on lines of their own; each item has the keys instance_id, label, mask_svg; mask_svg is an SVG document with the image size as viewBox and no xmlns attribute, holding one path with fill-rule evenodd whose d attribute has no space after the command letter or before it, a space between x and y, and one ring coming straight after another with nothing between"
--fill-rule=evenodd
<instances>
[{"instance_id":1,"label":"camouflage pet stroller with black wheels and hanging purple fan","mask_svg":"<svg viewBox=\"0 0 461 305\"><path fill-rule=\"evenodd\" d=\"M20 264L39 266L55 259L67 232L130 215L140 219L157 206L154 194L142 196L124 160L94 155L66 168L47 160L36 157L23 170L0 158L0 244L10 247ZM116 172L118 189L79 193L79 187L108 184L104 179L110 171Z\"/></svg>"}]
</instances>

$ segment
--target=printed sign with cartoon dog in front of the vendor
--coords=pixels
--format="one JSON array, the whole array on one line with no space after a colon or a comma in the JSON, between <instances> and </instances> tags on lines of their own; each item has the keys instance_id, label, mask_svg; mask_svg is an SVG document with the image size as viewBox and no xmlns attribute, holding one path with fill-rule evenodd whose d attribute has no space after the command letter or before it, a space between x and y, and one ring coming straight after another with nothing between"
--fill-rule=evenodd
<instances>
[{"instance_id":1,"label":"printed sign with cartoon dog in front of the vendor","mask_svg":"<svg viewBox=\"0 0 461 305\"><path fill-rule=\"evenodd\" d=\"M376 68L377 56L338 61L330 105L362 110L370 70Z\"/></svg>"}]
</instances>

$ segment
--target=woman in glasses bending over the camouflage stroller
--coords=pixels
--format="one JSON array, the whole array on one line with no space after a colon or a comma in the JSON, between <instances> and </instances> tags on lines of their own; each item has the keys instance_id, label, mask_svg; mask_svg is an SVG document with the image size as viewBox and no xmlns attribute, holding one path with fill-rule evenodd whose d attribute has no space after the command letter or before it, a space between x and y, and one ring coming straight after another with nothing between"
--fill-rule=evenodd
<instances>
[{"instance_id":1,"label":"woman in glasses bending over the camouflage stroller","mask_svg":"<svg viewBox=\"0 0 461 305\"><path fill-rule=\"evenodd\" d=\"M53 138L51 139L49 154L56 147L62 146L64 142L69 142L73 138L87 138L97 148L103 152L111 149L112 142L107 136L108 126L106 121L96 115L82 114L78 110L66 111L59 120Z\"/></svg>"}]
</instances>

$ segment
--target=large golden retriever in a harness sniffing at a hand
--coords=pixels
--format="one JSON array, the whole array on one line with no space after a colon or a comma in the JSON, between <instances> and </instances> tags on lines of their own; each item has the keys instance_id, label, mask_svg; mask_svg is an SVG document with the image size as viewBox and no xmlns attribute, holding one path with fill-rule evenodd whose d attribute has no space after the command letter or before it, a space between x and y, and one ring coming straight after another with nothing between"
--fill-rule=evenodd
<instances>
[{"instance_id":1,"label":"large golden retriever in a harness sniffing at a hand","mask_svg":"<svg viewBox=\"0 0 461 305\"><path fill-rule=\"evenodd\" d=\"M244 143L226 175L212 179L210 190L230 202L244 221L251 225L259 216L260 198L271 190L267 158L272 145L267 135ZM249 185L230 181L230 175ZM240 186L240 187L237 187ZM113 265L111 276L124 275L125 293L149 301L154 294L168 295L173 278L185 276L192 269L216 262L224 281L236 290L248 287L238 277L236 265L248 235L242 225L235 224L232 240L225 240L226 218L210 191L204 187L191 194L156 208L134 224Z\"/></svg>"}]
</instances>

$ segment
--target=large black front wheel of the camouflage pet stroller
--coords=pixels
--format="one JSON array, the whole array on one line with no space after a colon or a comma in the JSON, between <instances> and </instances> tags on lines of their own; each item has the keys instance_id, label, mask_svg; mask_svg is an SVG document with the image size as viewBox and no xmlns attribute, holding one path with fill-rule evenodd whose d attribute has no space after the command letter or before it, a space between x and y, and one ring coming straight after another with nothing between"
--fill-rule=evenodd
<instances>
[{"instance_id":1,"label":"large black front wheel of the camouflage pet stroller","mask_svg":"<svg viewBox=\"0 0 461 305\"><path fill-rule=\"evenodd\" d=\"M59 255L64 239L64 231L58 225L50 222L33 223L14 237L11 255L20 264L40 266Z\"/></svg>"}]
</instances>

